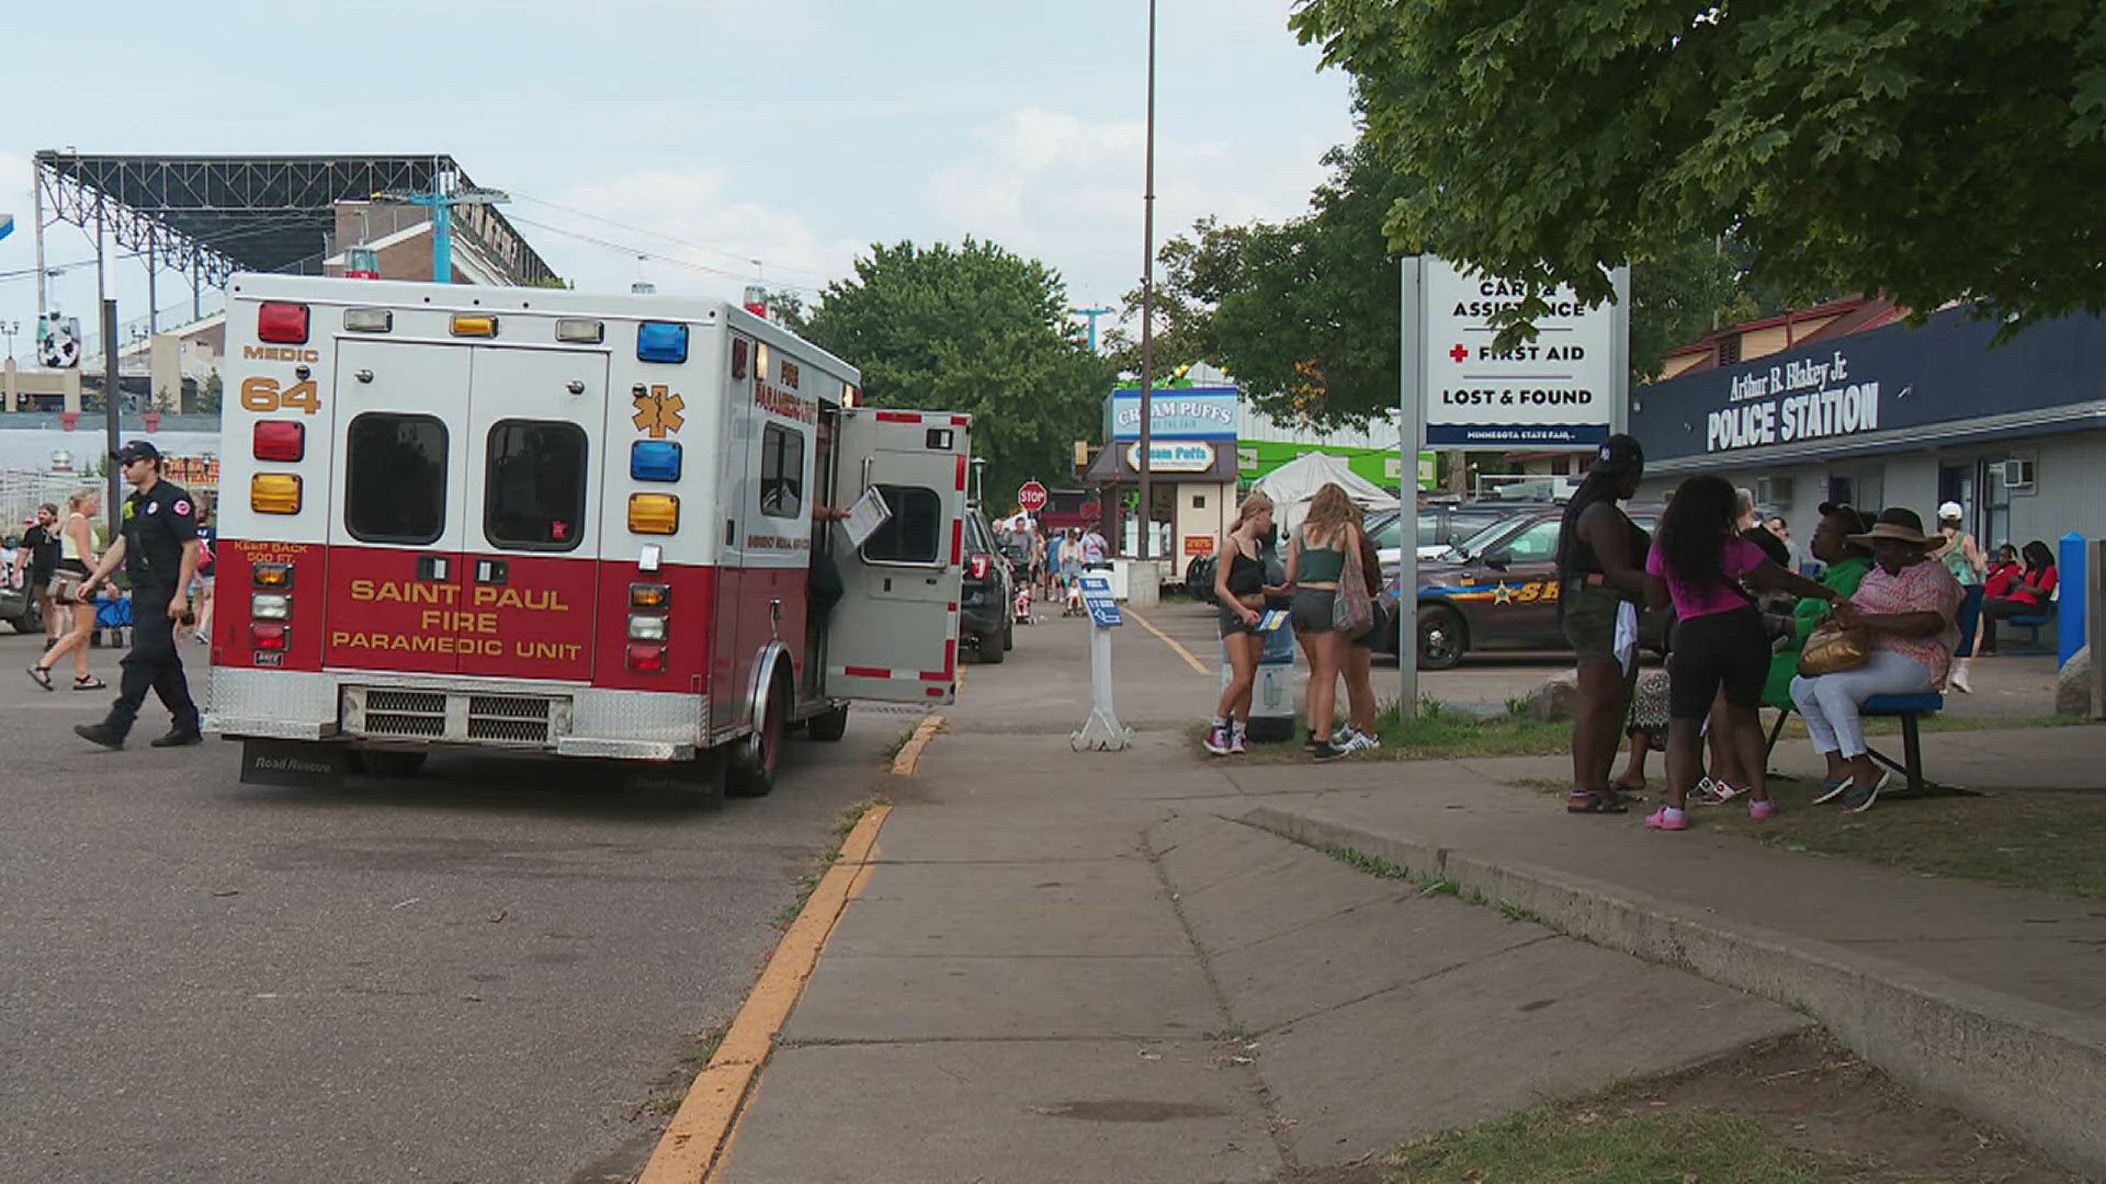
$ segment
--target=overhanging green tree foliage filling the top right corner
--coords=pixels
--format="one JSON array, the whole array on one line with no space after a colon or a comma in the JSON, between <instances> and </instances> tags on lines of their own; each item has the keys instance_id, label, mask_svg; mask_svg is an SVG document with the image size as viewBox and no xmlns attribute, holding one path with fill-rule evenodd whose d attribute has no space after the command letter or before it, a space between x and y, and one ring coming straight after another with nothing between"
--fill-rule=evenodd
<instances>
[{"instance_id":1,"label":"overhanging green tree foliage filling the top right corner","mask_svg":"<svg viewBox=\"0 0 2106 1184\"><path fill-rule=\"evenodd\" d=\"M1291 21L1426 181L1392 242L1598 299L1609 265L1733 234L1792 297L2106 308L2098 0L1308 0Z\"/></svg>"}]
</instances>

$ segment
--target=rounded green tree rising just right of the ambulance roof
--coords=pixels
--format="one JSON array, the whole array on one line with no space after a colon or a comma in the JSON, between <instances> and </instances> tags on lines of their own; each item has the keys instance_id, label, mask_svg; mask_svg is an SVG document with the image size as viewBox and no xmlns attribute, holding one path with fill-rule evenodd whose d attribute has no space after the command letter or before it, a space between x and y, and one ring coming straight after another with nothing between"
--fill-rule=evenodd
<instances>
[{"instance_id":1,"label":"rounded green tree rising just right of the ambulance roof","mask_svg":"<svg viewBox=\"0 0 2106 1184\"><path fill-rule=\"evenodd\" d=\"M834 280L804 337L863 371L872 407L973 415L994 508L1028 478L1057 482L1074 440L1101 432L1112 364L1066 331L1059 272L992 242L872 246Z\"/></svg>"}]
</instances>

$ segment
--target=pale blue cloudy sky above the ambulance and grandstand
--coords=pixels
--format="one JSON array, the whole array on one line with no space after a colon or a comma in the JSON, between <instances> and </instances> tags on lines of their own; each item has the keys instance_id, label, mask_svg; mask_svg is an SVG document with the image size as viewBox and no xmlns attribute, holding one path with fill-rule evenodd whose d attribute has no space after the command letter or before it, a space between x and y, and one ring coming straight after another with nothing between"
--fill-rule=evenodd
<instances>
[{"instance_id":1,"label":"pale blue cloudy sky above the ambulance and grandstand","mask_svg":"<svg viewBox=\"0 0 2106 1184\"><path fill-rule=\"evenodd\" d=\"M1348 80L1289 8L1158 0L1158 242L1302 213L1352 139ZM588 291L735 299L758 276L811 301L872 242L975 236L1114 305L1141 274L1146 36L1146 0L118 0L8 55L8 91L38 99L0 131L0 322L29 354L40 147L444 152ZM46 236L53 265L95 255ZM120 320L145 312L141 261L110 284ZM95 270L53 303L93 324Z\"/></svg>"}]
</instances>

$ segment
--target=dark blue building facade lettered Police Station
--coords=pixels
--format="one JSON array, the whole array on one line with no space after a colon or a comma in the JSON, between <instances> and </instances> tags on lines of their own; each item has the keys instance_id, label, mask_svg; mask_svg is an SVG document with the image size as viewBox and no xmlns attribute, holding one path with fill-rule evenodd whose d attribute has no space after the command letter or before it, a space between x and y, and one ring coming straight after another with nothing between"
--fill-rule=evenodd
<instances>
[{"instance_id":1,"label":"dark blue building facade lettered Police Station","mask_svg":"<svg viewBox=\"0 0 2106 1184\"><path fill-rule=\"evenodd\" d=\"M1822 501L1906 506L1925 529L1959 501L1984 546L2106 531L2106 320L2053 320L2003 346L1999 322L1961 308L1921 329L1883 320L1809 327L1759 358L1727 331L1706 339L1716 364L1634 388L1641 499L1718 472L1790 522L1799 558Z\"/></svg>"}]
</instances>

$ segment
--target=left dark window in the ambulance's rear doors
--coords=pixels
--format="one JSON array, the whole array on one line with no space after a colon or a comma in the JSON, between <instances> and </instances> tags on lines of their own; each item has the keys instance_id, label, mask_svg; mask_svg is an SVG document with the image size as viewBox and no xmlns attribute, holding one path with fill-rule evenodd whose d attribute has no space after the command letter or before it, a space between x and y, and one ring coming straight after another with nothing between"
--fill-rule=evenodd
<instances>
[{"instance_id":1,"label":"left dark window in the ambulance's rear doors","mask_svg":"<svg viewBox=\"0 0 2106 1184\"><path fill-rule=\"evenodd\" d=\"M343 527L364 544L425 546L446 531L446 426L369 411L352 419Z\"/></svg>"}]
</instances>

